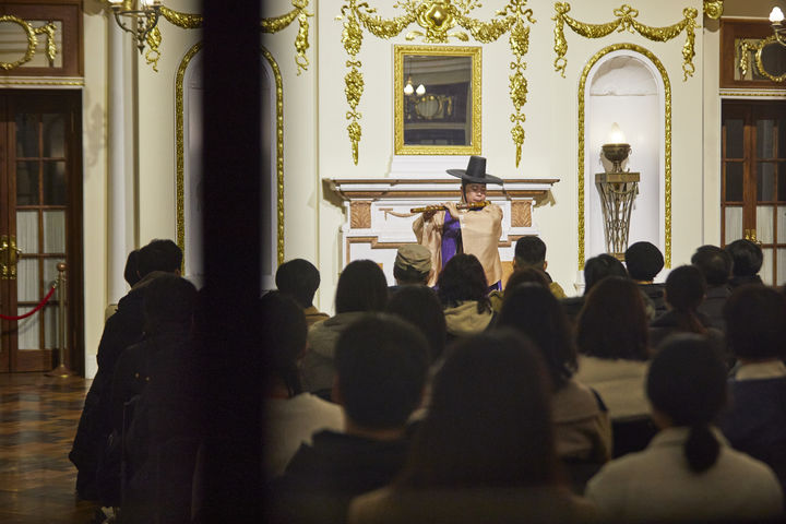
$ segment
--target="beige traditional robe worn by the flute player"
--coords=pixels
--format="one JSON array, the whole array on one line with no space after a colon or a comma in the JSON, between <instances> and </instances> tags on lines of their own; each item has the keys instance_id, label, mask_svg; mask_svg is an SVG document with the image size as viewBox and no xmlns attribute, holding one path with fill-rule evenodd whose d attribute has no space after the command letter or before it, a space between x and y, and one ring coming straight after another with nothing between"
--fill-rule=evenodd
<instances>
[{"instance_id":1,"label":"beige traditional robe worn by the flute player","mask_svg":"<svg viewBox=\"0 0 786 524\"><path fill-rule=\"evenodd\" d=\"M489 286L502 278L502 262L499 258L499 239L502 236L502 209L489 204L480 211L460 211L458 222L462 229L462 245L464 252L474 254L480 261L486 272ZM431 267L434 269L428 285L437 284L442 271L442 226L444 213L438 212L429 221L418 216L413 224L413 230L418 243L431 251Z\"/></svg>"}]
</instances>

